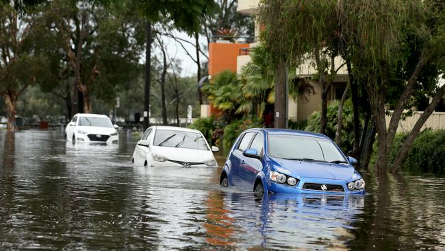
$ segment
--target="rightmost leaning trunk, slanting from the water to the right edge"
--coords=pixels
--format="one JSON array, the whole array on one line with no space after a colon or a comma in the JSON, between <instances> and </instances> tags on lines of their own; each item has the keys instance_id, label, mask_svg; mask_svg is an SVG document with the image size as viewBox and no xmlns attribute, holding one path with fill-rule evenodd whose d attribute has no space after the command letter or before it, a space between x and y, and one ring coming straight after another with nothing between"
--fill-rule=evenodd
<instances>
[{"instance_id":1,"label":"rightmost leaning trunk, slanting from the water to the right edge","mask_svg":"<svg viewBox=\"0 0 445 251\"><path fill-rule=\"evenodd\" d=\"M431 104L429 104L427 109L425 109L422 115L420 115L418 121L416 121L414 128L411 130L411 132L409 132L407 139L405 140L405 142L403 142L401 149L398 150L396 158L394 159L394 163L392 164L393 173L396 173L401 169L403 160L405 160L409 149L411 148L411 146L414 143L414 140L416 139L416 136L420 132L420 129L422 128L423 124L431 116L431 113L433 113L437 105L439 105L442 97L444 97L444 93L445 93L445 86L442 86L442 88L440 88L440 90L433 97Z\"/></svg>"}]
</instances>

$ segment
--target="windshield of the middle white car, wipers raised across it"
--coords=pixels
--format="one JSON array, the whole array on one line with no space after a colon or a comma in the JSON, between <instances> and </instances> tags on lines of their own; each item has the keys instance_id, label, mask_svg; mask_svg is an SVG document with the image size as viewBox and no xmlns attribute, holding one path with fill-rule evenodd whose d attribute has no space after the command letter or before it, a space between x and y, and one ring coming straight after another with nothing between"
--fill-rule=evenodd
<instances>
[{"instance_id":1,"label":"windshield of the middle white car, wipers raised across it","mask_svg":"<svg viewBox=\"0 0 445 251\"><path fill-rule=\"evenodd\" d=\"M153 145L162 147L179 147L196 150L209 150L200 133L176 130L156 130Z\"/></svg>"}]
</instances>

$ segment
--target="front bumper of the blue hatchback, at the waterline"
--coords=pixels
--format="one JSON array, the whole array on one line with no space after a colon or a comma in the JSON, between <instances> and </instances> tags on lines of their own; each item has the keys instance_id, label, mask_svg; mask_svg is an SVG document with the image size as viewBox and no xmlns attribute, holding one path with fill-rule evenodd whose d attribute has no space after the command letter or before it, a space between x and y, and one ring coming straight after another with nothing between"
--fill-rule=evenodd
<instances>
[{"instance_id":1,"label":"front bumper of the blue hatchback, at the waterline","mask_svg":"<svg viewBox=\"0 0 445 251\"><path fill-rule=\"evenodd\" d=\"M322 190L322 185L327 186L327 190ZM365 189L349 190L344 180L327 180L318 178L301 178L295 186L280 184L268 180L268 191L274 193L312 193L312 194L364 194Z\"/></svg>"}]
</instances>

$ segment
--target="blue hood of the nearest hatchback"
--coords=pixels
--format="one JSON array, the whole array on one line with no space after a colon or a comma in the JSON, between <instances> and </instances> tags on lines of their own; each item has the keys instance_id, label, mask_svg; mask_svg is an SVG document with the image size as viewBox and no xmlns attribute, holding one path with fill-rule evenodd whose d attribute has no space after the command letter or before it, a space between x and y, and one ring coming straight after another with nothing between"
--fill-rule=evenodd
<instances>
[{"instance_id":1,"label":"blue hood of the nearest hatchback","mask_svg":"<svg viewBox=\"0 0 445 251\"><path fill-rule=\"evenodd\" d=\"M281 165L275 166L277 171L288 174L288 170L292 176L305 178L322 178L334 180L349 180L354 174L354 167L346 164L331 164L319 162L307 162L299 160L285 160L281 158L274 159L276 163Z\"/></svg>"}]
</instances>

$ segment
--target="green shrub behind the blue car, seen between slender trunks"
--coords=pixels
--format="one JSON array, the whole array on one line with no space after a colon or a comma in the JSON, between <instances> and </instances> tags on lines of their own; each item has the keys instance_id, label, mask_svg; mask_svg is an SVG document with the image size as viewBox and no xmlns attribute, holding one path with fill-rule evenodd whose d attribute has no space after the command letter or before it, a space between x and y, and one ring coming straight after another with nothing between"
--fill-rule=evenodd
<instances>
[{"instance_id":1,"label":"green shrub behind the blue car, seen between slender trunks","mask_svg":"<svg viewBox=\"0 0 445 251\"><path fill-rule=\"evenodd\" d=\"M338 100L331 101L327 106L327 126L326 135L335 139L335 130L337 130ZM315 111L307 119L305 130L308 132L320 132L321 112ZM354 145L354 115L353 102L347 99L343 106L343 126L340 135L340 143L343 152L346 154L353 150Z\"/></svg>"}]
</instances>

